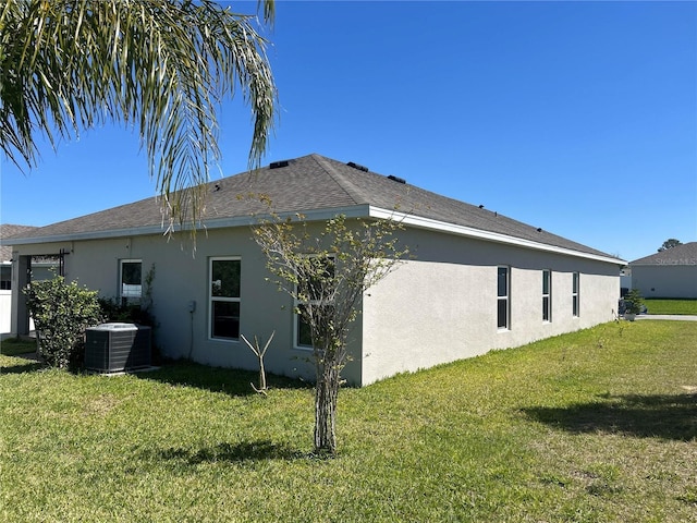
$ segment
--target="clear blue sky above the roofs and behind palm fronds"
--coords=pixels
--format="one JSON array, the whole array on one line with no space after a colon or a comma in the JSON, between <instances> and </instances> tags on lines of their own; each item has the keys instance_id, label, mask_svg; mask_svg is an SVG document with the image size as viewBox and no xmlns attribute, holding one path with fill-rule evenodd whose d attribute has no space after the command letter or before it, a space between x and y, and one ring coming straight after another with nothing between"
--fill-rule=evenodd
<instances>
[{"instance_id":1,"label":"clear blue sky above the roofs and behind palm fronds","mask_svg":"<svg viewBox=\"0 0 697 523\"><path fill-rule=\"evenodd\" d=\"M627 260L697 241L696 2L280 0L268 36L265 165L355 161ZM243 171L250 143L241 99L220 122L212 178ZM45 146L26 175L1 161L3 223L156 194L120 127Z\"/></svg>"}]
</instances>

